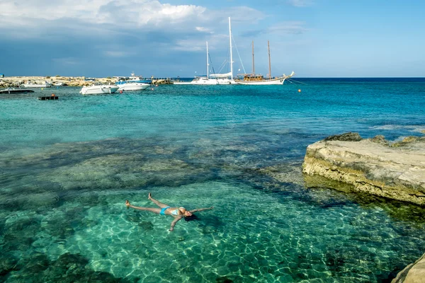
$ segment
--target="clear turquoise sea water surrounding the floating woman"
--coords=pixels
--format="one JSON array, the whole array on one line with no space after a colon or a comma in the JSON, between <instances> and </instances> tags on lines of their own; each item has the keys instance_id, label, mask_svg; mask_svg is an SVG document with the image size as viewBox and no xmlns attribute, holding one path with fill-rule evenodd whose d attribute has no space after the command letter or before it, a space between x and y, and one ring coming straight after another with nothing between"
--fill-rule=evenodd
<instances>
[{"instance_id":1,"label":"clear turquoise sea water surrounding the floating woman","mask_svg":"<svg viewBox=\"0 0 425 283\"><path fill-rule=\"evenodd\" d=\"M425 79L299 81L0 95L0 281L389 282L425 252L425 210L300 166L331 134L421 136ZM169 232L126 209L148 192L215 209Z\"/></svg>"}]
</instances>

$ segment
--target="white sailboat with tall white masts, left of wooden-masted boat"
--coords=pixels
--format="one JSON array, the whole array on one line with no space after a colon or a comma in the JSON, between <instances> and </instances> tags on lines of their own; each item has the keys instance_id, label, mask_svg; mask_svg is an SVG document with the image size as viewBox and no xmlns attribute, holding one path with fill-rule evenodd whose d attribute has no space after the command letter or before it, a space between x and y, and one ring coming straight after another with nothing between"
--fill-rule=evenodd
<instances>
[{"instance_id":1,"label":"white sailboat with tall white masts, left of wooden-masted boat","mask_svg":"<svg viewBox=\"0 0 425 283\"><path fill-rule=\"evenodd\" d=\"M230 71L225 74L209 74L210 73L210 60L208 53L207 42L207 76L196 76L191 82L177 82L174 84L195 84L195 85L216 85L216 84L232 84L235 83L233 79L233 61L232 61L232 28L230 25L229 17L229 45L230 45Z\"/></svg>"}]
</instances>

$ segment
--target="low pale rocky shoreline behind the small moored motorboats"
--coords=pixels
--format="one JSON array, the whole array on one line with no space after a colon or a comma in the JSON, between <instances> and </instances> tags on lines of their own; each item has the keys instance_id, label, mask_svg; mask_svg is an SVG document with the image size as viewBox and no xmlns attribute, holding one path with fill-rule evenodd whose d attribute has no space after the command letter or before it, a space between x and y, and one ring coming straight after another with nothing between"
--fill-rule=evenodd
<instances>
[{"instance_id":1,"label":"low pale rocky shoreline behind the small moored motorboats","mask_svg":"<svg viewBox=\"0 0 425 283\"><path fill-rule=\"evenodd\" d=\"M62 83L64 86L90 86L92 83L113 84L118 81L118 78L94 78L94 80L86 81L85 76L6 76L0 78L0 88L18 87L23 83L31 81L33 83ZM161 78L152 79L154 84L169 84L171 79Z\"/></svg>"}]
</instances>

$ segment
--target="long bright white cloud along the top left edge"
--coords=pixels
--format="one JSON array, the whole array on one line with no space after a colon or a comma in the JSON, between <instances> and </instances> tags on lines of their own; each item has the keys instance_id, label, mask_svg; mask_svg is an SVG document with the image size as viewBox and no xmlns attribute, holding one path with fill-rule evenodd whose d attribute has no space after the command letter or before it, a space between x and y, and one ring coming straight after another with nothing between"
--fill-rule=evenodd
<instances>
[{"instance_id":1,"label":"long bright white cloud along the top left edge","mask_svg":"<svg viewBox=\"0 0 425 283\"><path fill-rule=\"evenodd\" d=\"M205 7L195 5L161 4L152 0L28 0L18 4L0 2L0 18L8 25L40 25L60 19L72 19L90 24L118 26L170 25L200 16Z\"/></svg>"}]
</instances>

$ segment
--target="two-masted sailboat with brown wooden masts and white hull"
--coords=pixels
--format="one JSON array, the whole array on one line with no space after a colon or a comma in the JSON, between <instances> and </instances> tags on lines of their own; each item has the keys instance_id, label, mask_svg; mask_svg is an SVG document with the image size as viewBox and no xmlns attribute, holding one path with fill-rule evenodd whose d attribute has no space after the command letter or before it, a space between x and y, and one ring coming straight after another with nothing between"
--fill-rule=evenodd
<instances>
[{"instance_id":1,"label":"two-masted sailboat with brown wooden masts and white hull","mask_svg":"<svg viewBox=\"0 0 425 283\"><path fill-rule=\"evenodd\" d=\"M290 77L294 76L294 71L286 76L283 74L283 76L280 77L271 77L271 60L270 60L270 43L267 40L267 47L268 47L268 79L264 79L264 76L261 74L255 74L255 67L254 67L254 41L252 42L252 74L242 74L239 75L241 78L236 79L235 82L237 84L244 84L244 85L271 85L271 84L283 84L285 79L289 79Z\"/></svg>"}]
</instances>

